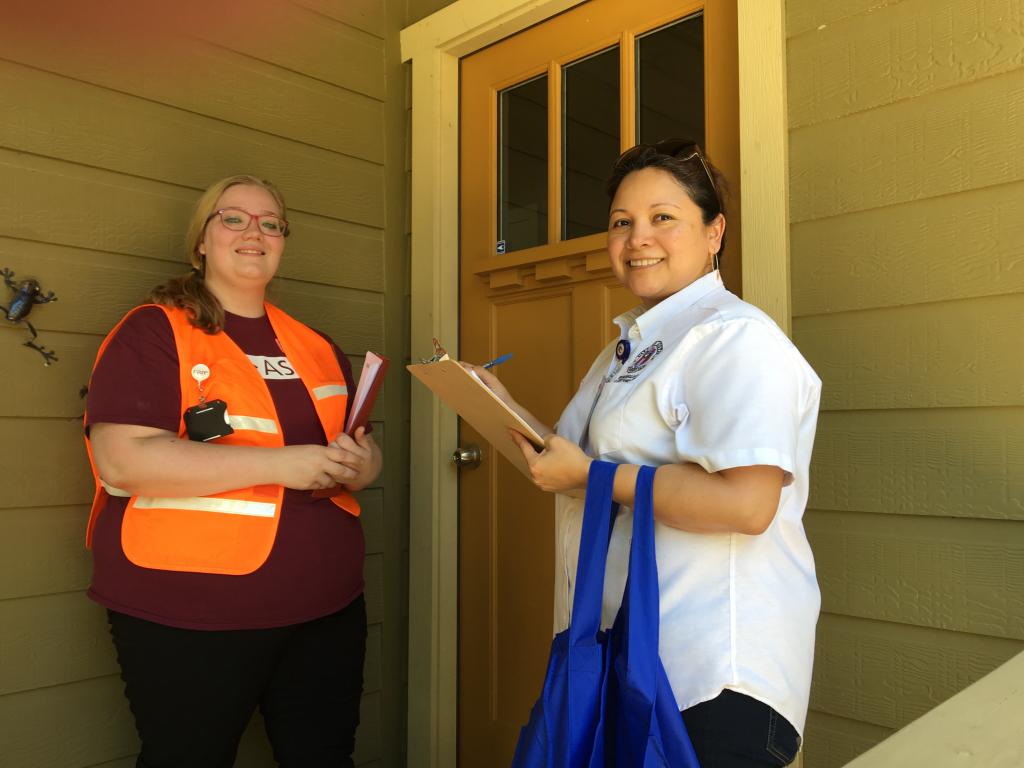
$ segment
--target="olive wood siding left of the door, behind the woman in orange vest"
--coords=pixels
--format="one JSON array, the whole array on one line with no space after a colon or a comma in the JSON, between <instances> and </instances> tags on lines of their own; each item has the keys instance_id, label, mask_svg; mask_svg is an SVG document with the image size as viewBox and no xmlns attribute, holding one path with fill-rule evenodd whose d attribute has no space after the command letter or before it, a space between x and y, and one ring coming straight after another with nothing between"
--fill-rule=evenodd
<instances>
[{"instance_id":1,"label":"olive wood siding left of the door, behind the woman in orange vest","mask_svg":"<svg viewBox=\"0 0 1024 768\"><path fill-rule=\"evenodd\" d=\"M406 8L390 5L57 0L5 13L0 266L57 294L31 319L59 361L44 368L22 346L28 331L0 324L0 763L134 765L105 614L85 596L92 488L79 390L118 318L186 268L200 191L240 172L274 181L294 233L272 300L330 334L356 374L367 349L407 356ZM404 764L402 391L389 385L377 403L385 473L358 495L370 618L360 766ZM238 765L272 764L256 717Z\"/></svg>"}]
</instances>

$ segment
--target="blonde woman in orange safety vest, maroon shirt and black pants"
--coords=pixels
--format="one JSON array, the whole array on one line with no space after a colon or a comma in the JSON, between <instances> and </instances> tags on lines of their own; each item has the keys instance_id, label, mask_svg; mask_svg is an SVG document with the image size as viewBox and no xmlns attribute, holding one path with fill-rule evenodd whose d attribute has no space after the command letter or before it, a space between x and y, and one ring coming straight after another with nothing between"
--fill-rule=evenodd
<instances>
[{"instance_id":1,"label":"blonde woman in orange safety vest, maroon shirt and black pants","mask_svg":"<svg viewBox=\"0 0 1024 768\"><path fill-rule=\"evenodd\" d=\"M343 430L344 353L266 301L288 231L269 182L213 184L191 271L96 357L89 595L108 609L139 766L229 766L257 708L280 763L352 764L367 617L351 492L381 453Z\"/></svg>"}]
</instances>

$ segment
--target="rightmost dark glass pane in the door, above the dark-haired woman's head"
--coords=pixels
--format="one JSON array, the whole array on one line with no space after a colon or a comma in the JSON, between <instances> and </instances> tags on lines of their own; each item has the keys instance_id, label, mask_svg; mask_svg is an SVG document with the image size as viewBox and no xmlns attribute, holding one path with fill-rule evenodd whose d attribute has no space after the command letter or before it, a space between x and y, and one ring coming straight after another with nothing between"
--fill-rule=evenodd
<instances>
[{"instance_id":1,"label":"rightmost dark glass pane in the door, above the dark-haired woman's head","mask_svg":"<svg viewBox=\"0 0 1024 768\"><path fill-rule=\"evenodd\" d=\"M637 141L691 138L705 146L703 15L638 37Z\"/></svg>"}]
</instances>

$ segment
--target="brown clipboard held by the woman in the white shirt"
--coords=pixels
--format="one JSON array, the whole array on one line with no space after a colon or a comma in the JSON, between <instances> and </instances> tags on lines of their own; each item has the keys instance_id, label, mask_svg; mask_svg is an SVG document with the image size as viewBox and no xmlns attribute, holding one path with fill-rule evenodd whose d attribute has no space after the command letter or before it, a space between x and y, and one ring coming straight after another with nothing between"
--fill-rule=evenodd
<instances>
[{"instance_id":1,"label":"brown clipboard held by the woman in the white shirt","mask_svg":"<svg viewBox=\"0 0 1024 768\"><path fill-rule=\"evenodd\" d=\"M406 366L409 372L440 398L498 452L529 477L529 468L522 451L512 441L508 430L514 429L538 449L544 438L522 418L506 406L490 389L469 371L444 355L433 362Z\"/></svg>"}]
</instances>

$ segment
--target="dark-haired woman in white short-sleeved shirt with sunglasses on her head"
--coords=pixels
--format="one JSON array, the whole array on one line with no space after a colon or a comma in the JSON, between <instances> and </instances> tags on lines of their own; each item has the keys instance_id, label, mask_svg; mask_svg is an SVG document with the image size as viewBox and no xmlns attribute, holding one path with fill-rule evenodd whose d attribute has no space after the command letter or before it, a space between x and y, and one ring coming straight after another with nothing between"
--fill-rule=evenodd
<instances>
[{"instance_id":1,"label":"dark-haired woman in white short-sleeved shirt with sunglasses on her head","mask_svg":"<svg viewBox=\"0 0 1024 768\"><path fill-rule=\"evenodd\" d=\"M717 181L716 181L717 179ZM804 534L820 381L722 285L721 174L691 141L640 144L608 181L608 255L640 306L615 318L557 432L470 367L545 439L517 435L557 494L555 631L568 623L593 458L620 465L604 626L622 601L639 465L657 467L659 653L702 768L783 766L807 716L820 598Z\"/></svg>"}]
</instances>

